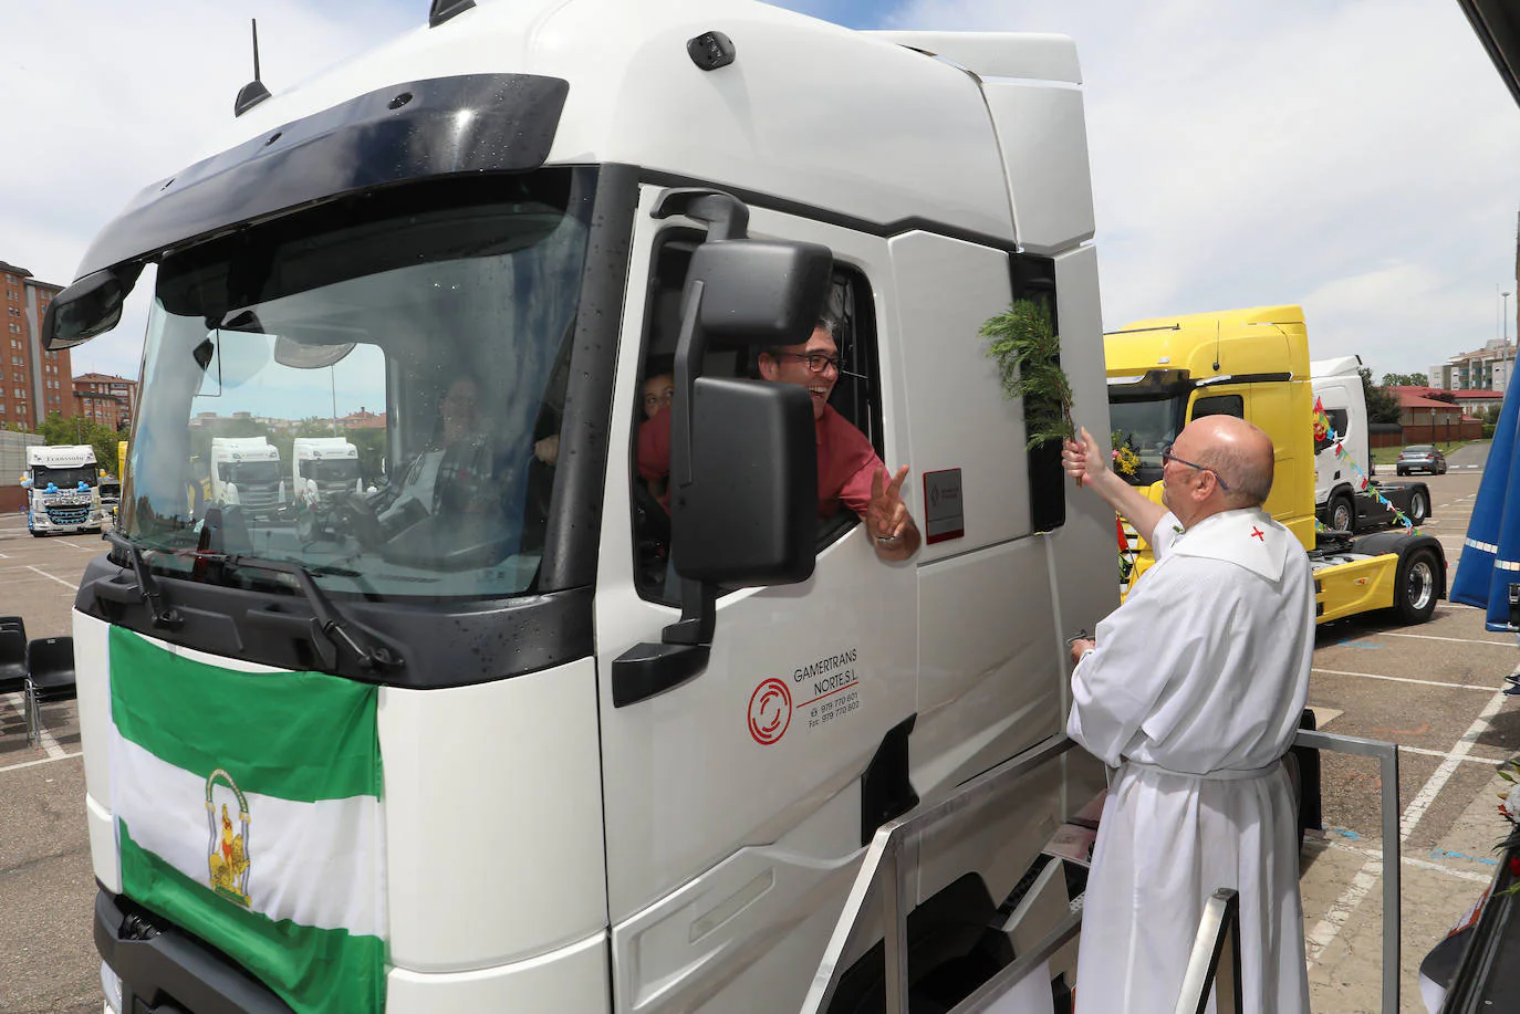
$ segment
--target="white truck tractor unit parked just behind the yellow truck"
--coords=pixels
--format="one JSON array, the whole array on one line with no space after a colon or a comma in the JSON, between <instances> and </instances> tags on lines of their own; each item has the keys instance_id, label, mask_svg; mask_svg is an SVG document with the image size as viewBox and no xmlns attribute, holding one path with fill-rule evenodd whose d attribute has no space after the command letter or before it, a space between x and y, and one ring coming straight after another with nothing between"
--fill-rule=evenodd
<instances>
[{"instance_id":1,"label":"white truck tractor unit parked just behind the yellow truck","mask_svg":"<svg viewBox=\"0 0 1520 1014\"><path fill-rule=\"evenodd\" d=\"M1315 403L1330 423L1327 433L1315 433L1316 515L1325 528L1356 534L1401 523L1392 506L1420 524L1430 517L1430 488L1376 477L1360 368L1360 356L1309 363Z\"/></svg>"}]
</instances>

